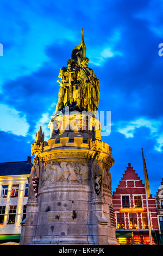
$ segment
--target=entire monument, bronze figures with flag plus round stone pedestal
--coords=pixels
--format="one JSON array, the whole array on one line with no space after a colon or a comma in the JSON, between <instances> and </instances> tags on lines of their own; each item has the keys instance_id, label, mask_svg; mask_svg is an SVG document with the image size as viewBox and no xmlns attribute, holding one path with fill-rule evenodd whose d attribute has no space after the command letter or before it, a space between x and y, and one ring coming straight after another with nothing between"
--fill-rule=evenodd
<instances>
[{"instance_id":1,"label":"entire monument, bronze figures with flag plus round stone pedestal","mask_svg":"<svg viewBox=\"0 0 163 256\"><path fill-rule=\"evenodd\" d=\"M110 176L114 159L101 138L95 116L99 80L88 64L82 30L81 43L60 68L50 138L44 141L40 127L32 144L20 245L117 245Z\"/></svg>"}]
</instances>

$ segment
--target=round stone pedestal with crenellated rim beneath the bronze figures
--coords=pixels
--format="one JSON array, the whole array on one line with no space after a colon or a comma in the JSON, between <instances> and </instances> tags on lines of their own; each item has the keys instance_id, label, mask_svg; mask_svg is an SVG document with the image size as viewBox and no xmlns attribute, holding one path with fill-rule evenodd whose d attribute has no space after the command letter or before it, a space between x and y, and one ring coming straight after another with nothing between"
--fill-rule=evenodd
<instances>
[{"instance_id":1,"label":"round stone pedestal with crenellated rim beneath the bronze figures","mask_svg":"<svg viewBox=\"0 0 163 256\"><path fill-rule=\"evenodd\" d=\"M117 245L110 176L114 159L111 147L101 141L99 121L59 115L49 128L48 144L37 139L33 145L39 190L35 203L28 200L20 244Z\"/></svg>"}]
</instances>

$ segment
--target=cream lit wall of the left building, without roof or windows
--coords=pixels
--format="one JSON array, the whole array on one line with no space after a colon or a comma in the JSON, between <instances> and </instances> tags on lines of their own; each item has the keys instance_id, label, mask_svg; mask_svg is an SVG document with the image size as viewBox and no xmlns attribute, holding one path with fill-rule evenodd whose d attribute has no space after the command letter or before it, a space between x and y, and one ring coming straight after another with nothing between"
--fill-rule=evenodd
<instances>
[{"instance_id":1,"label":"cream lit wall of the left building, without roof or windows","mask_svg":"<svg viewBox=\"0 0 163 256\"><path fill-rule=\"evenodd\" d=\"M0 206L5 206L4 223L0 225L0 234L20 234L23 205L27 204L28 197L24 197L27 177L29 175L0 176L0 195L2 185L8 185L7 198L0 197ZM19 184L18 197L11 197L12 184ZM10 205L16 205L16 218L14 224L8 224Z\"/></svg>"}]
</instances>

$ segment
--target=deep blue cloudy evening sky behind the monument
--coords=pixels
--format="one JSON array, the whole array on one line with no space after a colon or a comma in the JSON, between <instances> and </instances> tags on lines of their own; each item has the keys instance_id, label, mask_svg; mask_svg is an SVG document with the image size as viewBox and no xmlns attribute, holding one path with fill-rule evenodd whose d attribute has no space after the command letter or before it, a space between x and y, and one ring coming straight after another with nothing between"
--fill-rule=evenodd
<instances>
[{"instance_id":1,"label":"deep blue cloudy evening sky behind the monument","mask_svg":"<svg viewBox=\"0 0 163 256\"><path fill-rule=\"evenodd\" d=\"M128 163L151 192L163 178L163 1L0 1L1 162L26 160L58 100L59 70L81 41L99 78L99 110L111 111L115 190Z\"/></svg>"}]
</instances>

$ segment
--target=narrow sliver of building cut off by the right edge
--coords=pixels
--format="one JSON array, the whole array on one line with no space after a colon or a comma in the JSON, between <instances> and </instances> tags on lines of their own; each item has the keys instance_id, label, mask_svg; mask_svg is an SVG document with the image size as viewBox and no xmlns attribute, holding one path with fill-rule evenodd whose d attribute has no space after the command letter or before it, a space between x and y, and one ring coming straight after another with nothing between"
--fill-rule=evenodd
<instances>
[{"instance_id":1,"label":"narrow sliver of building cut off by the right edge","mask_svg":"<svg viewBox=\"0 0 163 256\"><path fill-rule=\"evenodd\" d=\"M159 245L163 245L163 179L156 193L155 201L159 223Z\"/></svg>"}]
</instances>

